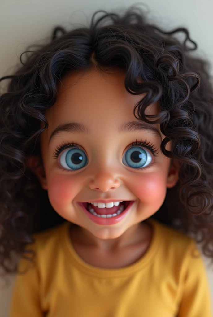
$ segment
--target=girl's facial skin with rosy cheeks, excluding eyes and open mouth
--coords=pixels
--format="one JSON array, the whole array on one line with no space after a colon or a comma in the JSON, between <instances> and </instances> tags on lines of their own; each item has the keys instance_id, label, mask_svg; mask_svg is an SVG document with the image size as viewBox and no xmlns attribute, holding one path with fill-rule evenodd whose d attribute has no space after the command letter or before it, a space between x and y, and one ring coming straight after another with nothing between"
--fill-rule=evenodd
<instances>
[{"instance_id":1,"label":"girl's facial skin with rosy cheeks, excluding eyes and open mouth","mask_svg":"<svg viewBox=\"0 0 213 317\"><path fill-rule=\"evenodd\" d=\"M160 151L164 136L159 124L155 125L159 134L151 130L119 133L122 123L138 121L133 108L142 98L126 91L124 78L123 72L101 75L94 70L66 75L61 81L64 87L61 84L58 87L57 101L46 112L49 127L41 138L45 177L38 177L42 187L48 190L51 205L61 217L101 239L121 236L133 225L152 216L163 204L166 189L178 181L178 171L170 169L171 159ZM160 109L153 104L148 111L154 114ZM69 122L87 126L89 134L61 131L50 140L59 125ZM130 165L123 162L128 146L136 139L150 141L158 149L155 157L145 148L148 154L144 160L150 160L145 165L149 167L139 170L132 167L134 162L130 161ZM68 153L69 149L54 158L57 147L67 142L76 143L84 154L82 168L75 171L65 167L68 154L62 154ZM166 148L170 149L169 146ZM73 169L73 166L72 163L68 168ZM100 225L90 220L77 204L95 199L132 200L135 203L118 223Z\"/></svg>"}]
</instances>

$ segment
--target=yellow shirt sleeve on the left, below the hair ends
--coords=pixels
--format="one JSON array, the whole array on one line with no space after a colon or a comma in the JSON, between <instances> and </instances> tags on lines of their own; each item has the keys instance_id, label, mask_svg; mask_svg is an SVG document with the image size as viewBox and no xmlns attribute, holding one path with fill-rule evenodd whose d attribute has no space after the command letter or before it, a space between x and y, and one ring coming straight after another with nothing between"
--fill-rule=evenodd
<instances>
[{"instance_id":1,"label":"yellow shirt sleeve on the left, below the hair ends","mask_svg":"<svg viewBox=\"0 0 213 317\"><path fill-rule=\"evenodd\" d=\"M30 247L29 249L34 249L32 245ZM10 301L9 317L44 316L40 307L39 271L36 256L33 262L35 264L27 259L21 258L19 260L18 272L24 271L26 273L16 274Z\"/></svg>"}]
</instances>

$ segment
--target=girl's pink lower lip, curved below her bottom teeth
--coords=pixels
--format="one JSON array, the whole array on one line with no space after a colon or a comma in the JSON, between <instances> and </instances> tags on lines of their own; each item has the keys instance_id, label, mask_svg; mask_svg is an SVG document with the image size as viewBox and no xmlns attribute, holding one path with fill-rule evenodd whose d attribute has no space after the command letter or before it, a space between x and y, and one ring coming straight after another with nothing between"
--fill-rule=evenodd
<instances>
[{"instance_id":1,"label":"girl's pink lower lip, curved below her bottom teeth","mask_svg":"<svg viewBox=\"0 0 213 317\"><path fill-rule=\"evenodd\" d=\"M87 215L87 217L92 220L94 223L97 224L102 224L102 225L111 225L111 224L115 224L118 223L119 221L121 221L126 214L128 213L128 211L130 210L130 208L132 207L132 205L134 204L135 201L131 201L130 204L126 207L126 209L119 214L118 216L115 217L111 217L111 218L102 218L102 217L96 217L94 215L92 215L85 207L82 203L78 203L81 208L83 209L83 211L85 212L85 214Z\"/></svg>"}]
</instances>

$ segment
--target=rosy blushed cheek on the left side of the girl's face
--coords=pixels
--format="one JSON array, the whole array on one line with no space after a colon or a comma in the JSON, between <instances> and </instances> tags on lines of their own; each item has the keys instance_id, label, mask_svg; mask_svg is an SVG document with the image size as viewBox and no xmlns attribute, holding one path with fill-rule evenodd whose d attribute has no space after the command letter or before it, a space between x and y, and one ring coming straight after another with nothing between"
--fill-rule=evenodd
<instances>
[{"instance_id":1,"label":"rosy blushed cheek on the left side of the girl's face","mask_svg":"<svg viewBox=\"0 0 213 317\"><path fill-rule=\"evenodd\" d=\"M48 178L48 197L53 208L61 210L75 197L76 182L70 176L52 175Z\"/></svg>"}]
</instances>

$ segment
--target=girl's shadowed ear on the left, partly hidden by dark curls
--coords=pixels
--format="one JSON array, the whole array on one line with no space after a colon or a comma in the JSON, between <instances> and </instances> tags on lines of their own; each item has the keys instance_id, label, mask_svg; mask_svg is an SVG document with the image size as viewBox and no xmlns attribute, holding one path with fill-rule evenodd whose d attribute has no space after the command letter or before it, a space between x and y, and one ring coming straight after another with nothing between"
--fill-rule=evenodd
<instances>
[{"instance_id":1,"label":"girl's shadowed ear on the left, partly hidden by dark curls","mask_svg":"<svg viewBox=\"0 0 213 317\"><path fill-rule=\"evenodd\" d=\"M30 156L28 159L28 167L30 171L37 176L42 188L47 190L47 179L40 156Z\"/></svg>"}]
</instances>

